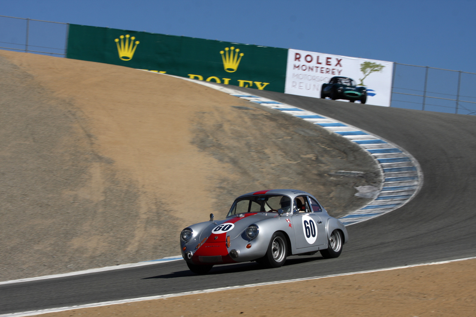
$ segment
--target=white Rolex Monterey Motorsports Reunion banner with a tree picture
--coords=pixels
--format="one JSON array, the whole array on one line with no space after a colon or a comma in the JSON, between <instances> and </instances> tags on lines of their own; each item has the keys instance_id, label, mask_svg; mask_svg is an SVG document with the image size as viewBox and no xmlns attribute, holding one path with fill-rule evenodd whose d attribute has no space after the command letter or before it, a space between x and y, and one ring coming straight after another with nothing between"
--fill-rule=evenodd
<instances>
[{"instance_id":1,"label":"white Rolex Monterey Motorsports Reunion banner with a tree picture","mask_svg":"<svg viewBox=\"0 0 476 317\"><path fill-rule=\"evenodd\" d=\"M288 49L286 94L320 98L322 84L334 76L367 87L367 104L390 106L393 63L382 60Z\"/></svg>"}]
</instances>

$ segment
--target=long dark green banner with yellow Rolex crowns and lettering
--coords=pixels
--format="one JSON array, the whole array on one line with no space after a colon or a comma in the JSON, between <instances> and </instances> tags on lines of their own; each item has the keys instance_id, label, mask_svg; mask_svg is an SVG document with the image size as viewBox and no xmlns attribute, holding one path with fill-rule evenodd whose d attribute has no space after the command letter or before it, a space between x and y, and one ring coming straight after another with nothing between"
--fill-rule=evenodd
<instances>
[{"instance_id":1,"label":"long dark green banner with yellow Rolex crowns and lettering","mask_svg":"<svg viewBox=\"0 0 476 317\"><path fill-rule=\"evenodd\" d=\"M70 24L66 57L284 92L288 49Z\"/></svg>"}]
</instances>

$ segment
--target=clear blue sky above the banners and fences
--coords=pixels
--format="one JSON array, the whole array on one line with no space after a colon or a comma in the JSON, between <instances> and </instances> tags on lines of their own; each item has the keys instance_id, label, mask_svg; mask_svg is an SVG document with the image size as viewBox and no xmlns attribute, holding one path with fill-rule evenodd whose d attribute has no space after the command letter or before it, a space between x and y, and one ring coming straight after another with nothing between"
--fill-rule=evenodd
<instances>
[{"instance_id":1,"label":"clear blue sky above the banners and fences","mask_svg":"<svg viewBox=\"0 0 476 317\"><path fill-rule=\"evenodd\" d=\"M0 14L476 73L469 0L2 0Z\"/></svg>"}]
</instances>

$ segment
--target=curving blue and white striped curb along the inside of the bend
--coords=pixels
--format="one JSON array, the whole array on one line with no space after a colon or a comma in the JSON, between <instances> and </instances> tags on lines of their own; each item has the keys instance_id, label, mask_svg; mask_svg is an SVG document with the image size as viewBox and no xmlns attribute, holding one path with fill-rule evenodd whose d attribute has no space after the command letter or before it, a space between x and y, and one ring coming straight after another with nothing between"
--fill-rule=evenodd
<instances>
[{"instance_id":1,"label":"curving blue and white striped curb along the inside of the bend","mask_svg":"<svg viewBox=\"0 0 476 317\"><path fill-rule=\"evenodd\" d=\"M338 134L347 140L358 144L361 148L372 155L381 169L383 176L382 187L379 192L374 195L375 198L372 202L356 211L351 211L344 217L339 218L339 220L346 226L375 218L404 206L415 197L423 184L423 173L418 161L401 147L375 134L352 125L347 125L346 123L329 118L325 115L319 115L276 100L250 95L237 89L218 86L206 81L178 76L173 77L208 86L224 93L228 93L231 96L257 103L260 106L279 110L288 115L319 125L329 132Z\"/></svg>"}]
</instances>

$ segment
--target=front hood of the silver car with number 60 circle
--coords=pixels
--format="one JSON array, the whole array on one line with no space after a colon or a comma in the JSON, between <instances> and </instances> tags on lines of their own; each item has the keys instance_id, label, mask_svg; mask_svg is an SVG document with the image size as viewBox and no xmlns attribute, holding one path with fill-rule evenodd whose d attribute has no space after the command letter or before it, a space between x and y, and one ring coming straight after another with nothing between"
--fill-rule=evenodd
<instances>
[{"instance_id":1,"label":"front hood of the silver car with number 60 circle","mask_svg":"<svg viewBox=\"0 0 476 317\"><path fill-rule=\"evenodd\" d=\"M241 232L243 232L248 226L252 223L258 223L258 221L277 217L277 213L266 213L266 212L259 212L259 213L245 213L243 217L229 217L225 220L213 221L200 232L199 240L202 241L203 239L214 235L218 237L216 242L224 242L227 236L230 236L230 240L235 239L238 237ZM231 226L229 226L231 224ZM221 227L220 227L221 226ZM231 227L228 229L228 227ZM223 231L225 229L226 231Z\"/></svg>"}]
</instances>

